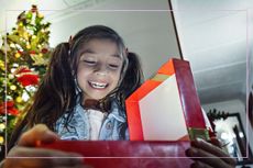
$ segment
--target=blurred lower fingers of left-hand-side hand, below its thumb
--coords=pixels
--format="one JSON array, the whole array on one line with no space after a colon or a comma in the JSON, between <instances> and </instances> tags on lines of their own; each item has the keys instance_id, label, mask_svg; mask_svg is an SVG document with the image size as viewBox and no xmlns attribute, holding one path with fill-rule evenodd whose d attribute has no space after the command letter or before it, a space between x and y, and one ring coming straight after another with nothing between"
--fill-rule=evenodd
<instances>
[{"instance_id":1,"label":"blurred lower fingers of left-hand-side hand, below its thumb","mask_svg":"<svg viewBox=\"0 0 253 168\"><path fill-rule=\"evenodd\" d=\"M74 167L82 166L84 161L79 155L73 153L64 153L59 150L14 147L10 150L4 166L8 168L13 166L25 168L54 168L54 167Z\"/></svg>"}]
</instances>

